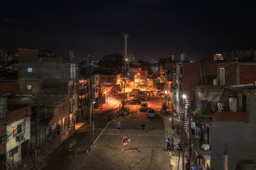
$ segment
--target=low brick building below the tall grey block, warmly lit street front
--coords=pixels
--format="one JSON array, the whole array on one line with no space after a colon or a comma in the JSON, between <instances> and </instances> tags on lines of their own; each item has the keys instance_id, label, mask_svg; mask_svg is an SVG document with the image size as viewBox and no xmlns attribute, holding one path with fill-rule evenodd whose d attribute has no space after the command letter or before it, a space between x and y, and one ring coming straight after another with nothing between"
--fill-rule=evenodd
<instances>
[{"instance_id":1,"label":"low brick building below the tall grey block, warmly lit street front","mask_svg":"<svg viewBox=\"0 0 256 170\"><path fill-rule=\"evenodd\" d=\"M74 133L76 116L70 113L68 96L12 97L9 104L12 107L31 106L30 152L36 148L36 138L38 150L45 152L46 139L48 143L60 144Z\"/></svg>"}]
</instances>

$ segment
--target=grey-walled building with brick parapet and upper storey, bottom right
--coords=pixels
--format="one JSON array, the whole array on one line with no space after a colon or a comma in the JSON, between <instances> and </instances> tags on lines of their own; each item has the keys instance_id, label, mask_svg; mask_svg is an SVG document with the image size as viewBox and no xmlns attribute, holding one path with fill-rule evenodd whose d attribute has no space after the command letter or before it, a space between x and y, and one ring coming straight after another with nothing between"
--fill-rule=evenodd
<instances>
[{"instance_id":1,"label":"grey-walled building with brick parapet and upper storey, bottom right","mask_svg":"<svg viewBox=\"0 0 256 170\"><path fill-rule=\"evenodd\" d=\"M244 162L254 162L256 140L256 87L230 88L237 96L230 102L230 111L218 111L211 122L211 168L223 169L227 155L228 169L237 169ZM237 103L236 103L237 102ZM247 168L246 168L247 169Z\"/></svg>"}]
</instances>

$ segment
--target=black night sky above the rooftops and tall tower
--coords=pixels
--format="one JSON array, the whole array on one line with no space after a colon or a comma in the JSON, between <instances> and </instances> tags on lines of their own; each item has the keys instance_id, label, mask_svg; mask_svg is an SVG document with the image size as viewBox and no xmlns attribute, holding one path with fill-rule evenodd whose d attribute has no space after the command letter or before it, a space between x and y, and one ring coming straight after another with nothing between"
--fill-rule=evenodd
<instances>
[{"instance_id":1,"label":"black night sky above the rooftops and tall tower","mask_svg":"<svg viewBox=\"0 0 256 170\"><path fill-rule=\"evenodd\" d=\"M101 57L128 53L156 60L173 52L210 59L256 47L255 3L246 1L1 0L0 47L45 48Z\"/></svg>"}]
</instances>

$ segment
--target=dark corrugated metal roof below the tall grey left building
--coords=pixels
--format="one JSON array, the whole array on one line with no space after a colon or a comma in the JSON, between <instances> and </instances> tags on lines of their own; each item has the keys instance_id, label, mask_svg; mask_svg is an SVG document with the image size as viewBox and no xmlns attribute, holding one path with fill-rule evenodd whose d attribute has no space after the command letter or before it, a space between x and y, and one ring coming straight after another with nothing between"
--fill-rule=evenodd
<instances>
[{"instance_id":1,"label":"dark corrugated metal roof below the tall grey left building","mask_svg":"<svg viewBox=\"0 0 256 170\"><path fill-rule=\"evenodd\" d=\"M10 97L8 104L24 105L24 106L54 106L68 99L68 96L32 96L32 97Z\"/></svg>"}]
</instances>

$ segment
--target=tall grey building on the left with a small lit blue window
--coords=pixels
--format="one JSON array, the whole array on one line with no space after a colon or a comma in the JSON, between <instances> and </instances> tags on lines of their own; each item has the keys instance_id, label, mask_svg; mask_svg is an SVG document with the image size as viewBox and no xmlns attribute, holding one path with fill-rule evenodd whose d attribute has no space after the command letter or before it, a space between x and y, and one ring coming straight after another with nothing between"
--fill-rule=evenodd
<instances>
[{"instance_id":1,"label":"tall grey building on the left with a small lit blue window","mask_svg":"<svg viewBox=\"0 0 256 170\"><path fill-rule=\"evenodd\" d=\"M19 95L58 95L70 97L70 113L77 115L79 64L63 62L55 52L18 48ZM72 56L70 56L72 58Z\"/></svg>"}]
</instances>

